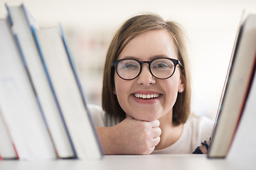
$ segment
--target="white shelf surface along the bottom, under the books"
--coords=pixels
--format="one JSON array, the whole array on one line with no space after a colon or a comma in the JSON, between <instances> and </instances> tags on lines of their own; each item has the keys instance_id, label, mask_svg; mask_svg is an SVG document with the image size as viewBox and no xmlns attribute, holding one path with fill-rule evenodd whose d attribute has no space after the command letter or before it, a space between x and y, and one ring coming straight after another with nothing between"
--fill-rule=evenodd
<instances>
[{"instance_id":1,"label":"white shelf surface along the bottom, under the books","mask_svg":"<svg viewBox=\"0 0 256 170\"><path fill-rule=\"evenodd\" d=\"M256 162L252 159L207 159L205 155L119 155L105 156L102 159L74 161L58 160L52 162L18 162L2 161L1 170L25 170L25 169L195 169L195 170L253 170Z\"/></svg>"}]
</instances>

